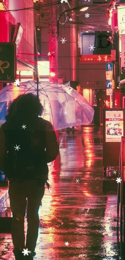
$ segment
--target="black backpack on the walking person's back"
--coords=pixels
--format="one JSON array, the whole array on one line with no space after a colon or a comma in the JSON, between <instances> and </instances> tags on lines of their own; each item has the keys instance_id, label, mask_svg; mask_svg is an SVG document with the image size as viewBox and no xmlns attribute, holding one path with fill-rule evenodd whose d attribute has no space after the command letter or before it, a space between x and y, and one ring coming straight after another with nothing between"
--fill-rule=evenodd
<instances>
[{"instance_id":1,"label":"black backpack on the walking person's back","mask_svg":"<svg viewBox=\"0 0 125 260\"><path fill-rule=\"evenodd\" d=\"M7 149L4 174L7 178L23 179L48 173L45 158L46 121L37 118L32 123L33 126L25 123L25 129L22 125L3 127Z\"/></svg>"}]
</instances>

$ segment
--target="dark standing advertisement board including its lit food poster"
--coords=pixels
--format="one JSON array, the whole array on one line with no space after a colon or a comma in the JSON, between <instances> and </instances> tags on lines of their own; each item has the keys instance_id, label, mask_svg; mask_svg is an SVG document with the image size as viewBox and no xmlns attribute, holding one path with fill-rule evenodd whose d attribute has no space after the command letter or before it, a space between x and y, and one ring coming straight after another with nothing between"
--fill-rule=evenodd
<instances>
[{"instance_id":1,"label":"dark standing advertisement board including its lit food poster","mask_svg":"<svg viewBox=\"0 0 125 260\"><path fill-rule=\"evenodd\" d=\"M122 136L125 136L125 108L103 108L103 165L119 166Z\"/></svg>"}]
</instances>

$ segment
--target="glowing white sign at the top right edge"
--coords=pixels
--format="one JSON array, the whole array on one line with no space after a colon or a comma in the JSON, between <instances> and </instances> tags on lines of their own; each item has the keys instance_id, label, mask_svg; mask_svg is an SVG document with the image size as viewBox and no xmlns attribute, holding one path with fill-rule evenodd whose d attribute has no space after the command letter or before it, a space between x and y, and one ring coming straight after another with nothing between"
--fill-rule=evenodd
<instances>
[{"instance_id":1,"label":"glowing white sign at the top right edge","mask_svg":"<svg viewBox=\"0 0 125 260\"><path fill-rule=\"evenodd\" d=\"M118 30L123 31L125 30L125 7L118 6Z\"/></svg>"}]
</instances>

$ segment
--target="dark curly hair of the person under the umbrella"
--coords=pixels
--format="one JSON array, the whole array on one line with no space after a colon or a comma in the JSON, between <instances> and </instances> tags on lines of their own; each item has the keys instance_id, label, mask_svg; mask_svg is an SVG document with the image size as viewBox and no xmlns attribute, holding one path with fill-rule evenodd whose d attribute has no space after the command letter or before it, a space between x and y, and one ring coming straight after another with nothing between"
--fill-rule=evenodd
<instances>
[{"instance_id":1,"label":"dark curly hair of the person under the umbrella","mask_svg":"<svg viewBox=\"0 0 125 260\"><path fill-rule=\"evenodd\" d=\"M8 115L6 120L10 121L12 118L41 116L43 114L43 106L39 98L32 93L19 95L8 108Z\"/></svg>"}]
</instances>

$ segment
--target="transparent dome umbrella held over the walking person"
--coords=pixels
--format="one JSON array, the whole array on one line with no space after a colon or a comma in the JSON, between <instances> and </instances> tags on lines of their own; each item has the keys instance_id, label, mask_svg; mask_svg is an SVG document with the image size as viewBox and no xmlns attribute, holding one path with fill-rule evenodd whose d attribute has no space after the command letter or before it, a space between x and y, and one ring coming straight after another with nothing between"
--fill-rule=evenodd
<instances>
[{"instance_id":1,"label":"transparent dome umbrella held over the walking person","mask_svg":"<svg viewBox=\"0 0 125 260\"><path fill-rule=\"evenodd\" d=\"M49 120L55 130L70 126L87 125L92 122L94 110L87 100L76 90L56 82L39 82L39 99L44 106L42 117ZM21 94L37 95L37 83L27 81L20 86L8 85L0 91L0 102L7 102L7 107Z\"/></svg>"}]
</instances>

